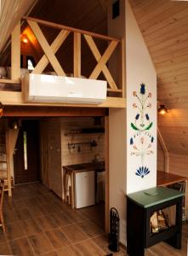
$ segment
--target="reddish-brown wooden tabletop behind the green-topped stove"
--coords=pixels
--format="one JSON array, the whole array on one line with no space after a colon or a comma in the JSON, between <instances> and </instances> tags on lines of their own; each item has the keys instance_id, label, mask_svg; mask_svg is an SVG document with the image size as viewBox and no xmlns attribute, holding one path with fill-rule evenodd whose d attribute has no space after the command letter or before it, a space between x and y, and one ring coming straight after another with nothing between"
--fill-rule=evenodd
<instances>
[{"instance_id":1,"label":"reddish-brown wooden tabletop behind the green-topped stove","mask_svg":"<svg viewBox=\"0 0 188 256\"><path fill-rule=\"evenodd\" d=\"M185 180L187 180L187 177L182 177L169 172L157 171L157 186L167 186Z\"/></svg>"}]
</instances>

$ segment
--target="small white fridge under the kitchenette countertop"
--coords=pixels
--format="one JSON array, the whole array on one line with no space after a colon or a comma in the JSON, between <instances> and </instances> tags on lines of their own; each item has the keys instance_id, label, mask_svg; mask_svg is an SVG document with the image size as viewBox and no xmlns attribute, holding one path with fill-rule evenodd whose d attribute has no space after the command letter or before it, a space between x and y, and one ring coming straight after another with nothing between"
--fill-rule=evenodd
<instances>
[{"instance_id":1,"label":"small white fridge under the kitchenette countertop","mask_svg":"<svg viewBox=\"0 0 188 256\"><path fill-rule=\"evenodd\" d=\"M75 201L76 208L89 207L95 204L95 171L76 172Z\"/></svg>"}]
</instances>

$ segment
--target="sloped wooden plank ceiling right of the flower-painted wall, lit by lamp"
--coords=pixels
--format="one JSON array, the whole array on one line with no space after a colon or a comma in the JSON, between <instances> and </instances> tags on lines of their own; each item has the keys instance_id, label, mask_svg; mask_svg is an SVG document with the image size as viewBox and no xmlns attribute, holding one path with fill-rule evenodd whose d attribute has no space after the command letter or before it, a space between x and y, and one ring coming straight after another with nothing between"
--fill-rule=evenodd
<instances>
[{"instance_id":1,"label":"sloped wooden plank ceiling right of the flower-painted wall, lit by lamp","mask_svg":"<svg viewBox=\"0 0 188 256\"><path fill-rule=\"evenodd\" d=\"M188 2L130 0L157 70L158 126L169 152L188 154Z\"/></svg>"}]
</instances>

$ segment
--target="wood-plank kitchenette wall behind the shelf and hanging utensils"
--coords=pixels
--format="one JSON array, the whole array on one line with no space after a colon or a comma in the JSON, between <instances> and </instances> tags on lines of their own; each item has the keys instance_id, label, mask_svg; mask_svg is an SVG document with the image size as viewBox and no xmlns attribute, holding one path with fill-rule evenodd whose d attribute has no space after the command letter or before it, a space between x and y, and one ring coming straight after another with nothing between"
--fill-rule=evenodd
<instances>
[{"instance_id":1,"label":"wood-plank kitchenette wall behind the shelf and hanging utensils","mask_svg":"<svg viewBox=\"0 0 188 256\"><path fill-rule=\"evenodd\" d=\"M102 120L102 123L104 120ZM62 166L87 163L94 160L97 154L98 160L105 160L105 133L83 133L76 135L66 135L67 132L77 130L79 128L90 128L94 126L93 118L62 118L61 119L61 157ZM68 148L68 143L88 143L96 141L96 147L90 147L84 144L74 149Z\"/></svg>"}]
</instances>

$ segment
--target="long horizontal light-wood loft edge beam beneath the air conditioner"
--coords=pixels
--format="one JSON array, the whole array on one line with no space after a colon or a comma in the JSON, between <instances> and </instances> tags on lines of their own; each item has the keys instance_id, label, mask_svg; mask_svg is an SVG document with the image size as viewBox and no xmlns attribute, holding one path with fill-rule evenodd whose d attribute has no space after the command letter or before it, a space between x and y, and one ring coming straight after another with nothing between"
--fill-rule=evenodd
<instances>
[{"instance_id":1,"label":"long horizontal light-wood loft edge beam beneath the air conditioner","mask_svg":"<svg viewBox=\"0 0 188 256\"><path fill-rule=\"evenodd\" d=\"M19 91L0 91L0 99L3 105L9 106L63 106L63 107L82 107L82 108L126 108L126 99L122 97L107 97L105 102L96 104L72 104L64 102L33 102L25 103L22 92Z\"/></svg>"}]
</instances>

